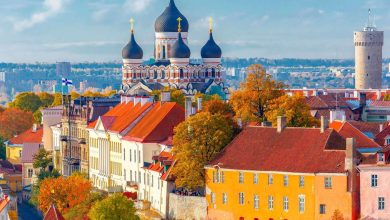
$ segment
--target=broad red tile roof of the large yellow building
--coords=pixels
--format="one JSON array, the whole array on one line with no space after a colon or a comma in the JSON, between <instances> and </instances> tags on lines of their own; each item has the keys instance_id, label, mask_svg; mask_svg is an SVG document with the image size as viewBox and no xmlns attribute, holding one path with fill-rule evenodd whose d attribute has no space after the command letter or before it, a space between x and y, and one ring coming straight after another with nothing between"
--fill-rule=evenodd
<instances>
[{"instance_id":1,"label":"broad red tile roof of the large yellow building","mask_svg":"<svg viewBox=\"0 0 390 220\"><path fill-rule=\"evenodd\" d=\"M245 128L209 166L238 170L342 173L345 140L333 129Z\"/></svg>"}]
</instances>

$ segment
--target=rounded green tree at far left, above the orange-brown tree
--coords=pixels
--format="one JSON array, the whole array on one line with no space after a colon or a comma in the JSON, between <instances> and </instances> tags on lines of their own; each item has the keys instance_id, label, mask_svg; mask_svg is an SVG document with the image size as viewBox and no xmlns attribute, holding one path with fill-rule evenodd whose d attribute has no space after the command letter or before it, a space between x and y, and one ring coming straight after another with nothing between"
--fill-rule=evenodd
<instances>
[{"instance_id":1,"label":"rounded green tree at far left, above the orange-brown tree","mask_svg":"<svg viewBox=\"0 0 390 220\"><path fill-rule=\"evenodd\" d=\"M41 107L42 102L39 96L32 92L23 92L16 96L13 102L9 103L10 107L20 110L35 112Z\"/></svg>"}]
</instances>

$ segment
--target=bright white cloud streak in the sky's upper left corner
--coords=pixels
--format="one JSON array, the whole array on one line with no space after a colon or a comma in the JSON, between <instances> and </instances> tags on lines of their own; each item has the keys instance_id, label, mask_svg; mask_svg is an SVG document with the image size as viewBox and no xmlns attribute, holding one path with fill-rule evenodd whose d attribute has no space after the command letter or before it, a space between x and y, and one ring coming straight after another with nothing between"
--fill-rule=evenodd
<instances>
[{"instance_id":1,"label":"bright white cloud streak in the sky's upper left corner","mask_svg":"<svg viewBox=\"0 0 390 220\"><path fill-rule=\"evenodd\" d=\"M32 14L29 19L14 21L14 29L16 31L23 31L36 24L45 22L48 18L56 15L63 9L65 1L66 0L44 0L43 11Z\"/></svg>"}]
</instances>

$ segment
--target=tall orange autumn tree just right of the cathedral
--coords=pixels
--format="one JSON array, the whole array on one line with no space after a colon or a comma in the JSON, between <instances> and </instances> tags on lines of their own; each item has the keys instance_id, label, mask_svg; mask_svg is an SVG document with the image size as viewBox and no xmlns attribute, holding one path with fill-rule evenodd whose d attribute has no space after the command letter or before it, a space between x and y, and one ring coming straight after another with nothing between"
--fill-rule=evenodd
<instances>
[{"instance_id":1,"label":"tall orange autumn tree just right of the cathedral","mask_svg":"<svg viewBox=\"0 0 390 220\"><path fill-rule=\"evenodd\" d=\"M236 112L236 117L244 122L265 121L264 113L269 102L282 96L285 86L273 80L259 64L248 67L247 73L247 79L241 83L241 88L232 93L230 103Z\"/></svg>"}]
</instances>

